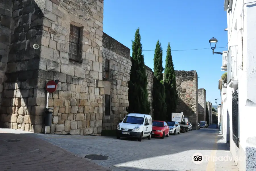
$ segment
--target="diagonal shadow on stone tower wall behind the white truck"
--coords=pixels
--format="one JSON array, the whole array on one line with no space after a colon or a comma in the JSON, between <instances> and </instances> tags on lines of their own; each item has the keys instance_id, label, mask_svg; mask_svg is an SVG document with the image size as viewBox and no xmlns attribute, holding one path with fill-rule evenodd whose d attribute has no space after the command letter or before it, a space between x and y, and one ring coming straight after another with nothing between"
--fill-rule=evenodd
<instances>
[{"instance_id":1,"label":"diagonal shadow on stone tower wall behind the white truck","mask_svg":"<svg viewBox=\"0 0 256 171\"><path fill-rule=\"evenodd\" d=\"M177 113L183 112L184 117L189 118L188 121L192 124L193 129L197 123L193 123L192 117L196 117L195 112L180 98L177 98Z\"/></svg>"}]
</instances>

